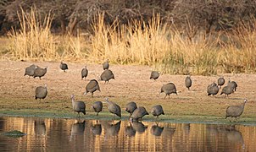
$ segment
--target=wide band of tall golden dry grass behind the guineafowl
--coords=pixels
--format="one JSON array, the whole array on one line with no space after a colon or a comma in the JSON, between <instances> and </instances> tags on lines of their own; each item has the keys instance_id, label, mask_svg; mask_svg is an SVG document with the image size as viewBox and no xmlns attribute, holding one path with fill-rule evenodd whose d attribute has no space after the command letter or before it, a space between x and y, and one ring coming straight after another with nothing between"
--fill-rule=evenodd
<instances>
[{"instance_id":1,"label":"wide band of tall golden dry grass behind the guineafowl","mask_svg":"<svg viewBox=\"0 0 256 152\"><path fill-rule=\"evenodd\" d=\"M158 15L148 24L104 24L98 14L90 40L78 35L53 36L53 16L40 22L36 10L19 15L20 30L9 36L10 51L16 59L79 60L101 63L106 58L118 64L150 65L162 73L217 74L254 73L256 66L256 21L230 33L187 35L161 23ZM249 28L252 27L252 28ZM191 28L192 29L192 28ZM193 31L190 31L191 33ZM188 33L189 34L189 33Z\"/></svg>"}]
</instances>

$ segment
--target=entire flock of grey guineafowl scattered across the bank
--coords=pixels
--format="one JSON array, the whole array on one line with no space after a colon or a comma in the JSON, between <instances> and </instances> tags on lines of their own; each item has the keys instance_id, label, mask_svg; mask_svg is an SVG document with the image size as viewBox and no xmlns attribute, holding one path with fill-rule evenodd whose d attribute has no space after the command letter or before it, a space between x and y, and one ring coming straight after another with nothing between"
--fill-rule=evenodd
<instances>
[{"instance_id":1,"label":"entire flock of grey guineafowl scattered across the bank","mask_svg":"<svg viewBox=\"0 0 256 152\"><path fill-rule=\"evenodd\" d=\"M59 68L62 69L64 72L66 72L66 70L69 69L68 65L64 62L60 62ZM109 59L106 62L103 62L103 70L104 71L101 74L100 79L105 81L105 83L109 83L110 79L114 79L114 73L109 69ZM40 68L35 64L32 64L30 67L25 68L24 75L28 75L29 77L33 77L33 78L39 77L39 79L41 79L46 73L47 73L47 68ZM86 79L87 75L88 75L88 70L85 67L81 70L81 79ZM150 75L150 79L156 80L158 78L159 78L159 72L152 71ZM208 95L217 95L219 93L219 90L221 89L221 86L225 84L225 79L223 77L220 77L217 82L218 84L213 83L208 85L207 87ZM186 85L186 88L190 90L190 87L192 86L192 79L190 75L186 77L185 85ZM93 93L96 90L100 91L99 84L96 79L92 79L89 81L88 84L86 84L86 91L84 95L90 92L93 97ZM228 84L222 88L220 95L225 94L225 97L226 97L228 95L231 95L231 93L233 93L236 90L237 90L237 83L229 79ZM175 84L173 83L164 84L160 90L160 93L162 92L165 93L164 98L167 95L169 95L170 97L170 94L177 95L176 87L175 87ZM41 99L44 99L46 96L47 96L47 84L45 84L45 86L36 87L35 99L41 100ZM78 116L80 117L80 113L83 113L85 115L86 104L83 101L75 101L75 95L71 95L71 100L72 100L73 110L78 113ZM241 106L228 106L226 108L225 118L235 117L237 120L237 117L240 117L242 115L245 103L247 101L248 100L245 99ZM112 101L109 101L109 98L106 98L105 101L103 102L96 101L93 103L92 108L97 113L97 115L99 112L103 110L103 103L108 104L109 112L113 113L118 117L121 117L120 106L118 106L116 103ZM126 105L125 111L130 113L129 119L132 122L134 121L137 122L139 120L142 120L142 117L144 117L145 115L148 115L148 112L145 107L143 106L137 107L136 103L133 101ZM159 118L160 115L164 115L163 107L161 105L153 106L151 113L153 116Z\"/></svg>"}]
</instances>

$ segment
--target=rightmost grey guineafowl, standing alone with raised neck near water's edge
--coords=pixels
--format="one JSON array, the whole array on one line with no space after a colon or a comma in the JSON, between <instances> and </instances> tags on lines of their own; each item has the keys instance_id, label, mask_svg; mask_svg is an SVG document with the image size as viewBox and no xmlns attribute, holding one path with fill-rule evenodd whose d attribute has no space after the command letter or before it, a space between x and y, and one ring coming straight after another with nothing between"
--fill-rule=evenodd
<instances>
[{"instance_id":1,"label":"rightmost grey guineafowl, standing alone with raised neck near water's edge","mask_svg":"<svg viewBox=\"0 0 256 152\"><path fill-rule=\"evenodd\" d=\"M244 110L244 106L245 106L245 103L247 102L248 100L244 100L243 101L243 104L240 105L240 106L228 106L226 108L226 111L225 111L225 119L227 117L235 117L236 118L236 121L237 121L237 117L240 117L242 115L242 112ZM231 122L231 121L230 121Z\"/></svg>"}]
</instances>

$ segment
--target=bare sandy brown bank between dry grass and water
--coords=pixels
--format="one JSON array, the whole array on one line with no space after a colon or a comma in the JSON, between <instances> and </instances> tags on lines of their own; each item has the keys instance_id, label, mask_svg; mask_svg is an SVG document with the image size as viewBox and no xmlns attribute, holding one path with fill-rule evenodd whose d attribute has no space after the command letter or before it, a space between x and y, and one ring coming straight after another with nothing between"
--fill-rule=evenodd
<instances>
[{"instance_id":1,"label":"bare sandy brown bank between dry grass and water","mask_svg":"<svg viewBox=\"0 0 256 152\"><path fill-rule=\"evenodd\" d=\"M24 76L25 68L31 64L42 68L48 67L42 80ZM226 121L225 109L227 106L240 105L244 98L248 99L241 119L256 123L256 75L255 74L222 74L227 84L228 78L238 84L237 91L228 98L225 95L208 96L206 88L216 82L218 76L192 75L192 88L187 90L184 84L186 75L162 74L159 79L149 79L152 68L136 65L113 65L110 68L115 76L109 84L99 81L101 92L96 91L94 97L90 94L83 95L86 84L90 79L99 79L103 73L101 64L86 64L67 62L69 70L64 73L59 68L59 62L14 62L0 61L0 113L15 114L20 112L54 112L71 113L72 106L70 95L74 94L76 100L86 102L88 115L92 112L92 102L96 100L109 100L118 103L122 110L125 105L133 100L138 106L145 106L147 111L160 104L164 107L163 120L182 119L191 121L221 122ZM89 74L86 80L81 80L81 69L87 66ZM173 82L178 95L170 95L164 99L164 93L159 94L163 84ZM35 90L39 85L47 84L48 95L45 100L35 100ZM104 107L103 111L109 113ZM122 114L126 116L125 111ZM128 116L128 115L127 115Z\"/></svg>"}]
</instances>

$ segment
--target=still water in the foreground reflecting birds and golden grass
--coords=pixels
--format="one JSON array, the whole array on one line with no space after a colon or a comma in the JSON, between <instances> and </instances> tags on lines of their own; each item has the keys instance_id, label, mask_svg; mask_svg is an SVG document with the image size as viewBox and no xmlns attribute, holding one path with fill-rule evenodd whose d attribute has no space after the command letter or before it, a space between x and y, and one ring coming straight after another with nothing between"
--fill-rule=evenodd
<instances>
[{"instance_id":1,"label":"still water in the foreground reflecting birds and golden grass","mask_svg":"<svg viewBox=\"0 0 256 152\"><path fill-rule=\"evenodd\" d=\"M256 151L256 126L0 117L0 151Z\"/></svg>"}]
</instances>

